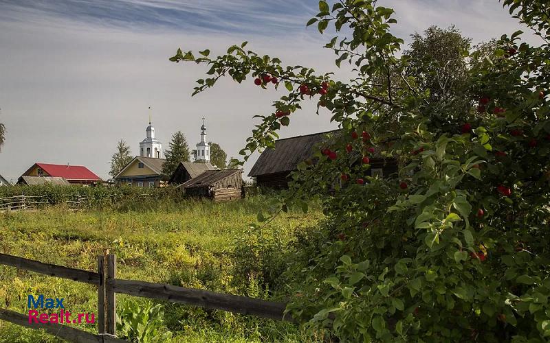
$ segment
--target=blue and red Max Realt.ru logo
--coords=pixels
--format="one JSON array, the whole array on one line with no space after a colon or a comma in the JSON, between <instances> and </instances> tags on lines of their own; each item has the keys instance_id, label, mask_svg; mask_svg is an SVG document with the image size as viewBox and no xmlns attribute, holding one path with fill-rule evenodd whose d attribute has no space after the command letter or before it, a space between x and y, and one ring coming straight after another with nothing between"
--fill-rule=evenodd
<instances>
[{"instance_id":1,"label":"blue and red Max Realt.ru logo","mask_svg":"<svg viewBox=\"0 0 550 343\"><path fill-rule=\"evenodd\" d=\"M72 314L69 311L65 311L65 305L63 301L65 298L45 298L43 294L38 297L34 297L29 294L27 300L27 306L29 308L29 323L66 323L76 324L83 322L83 318L89 324L96 322L96 316L94 314L75 314L76 317L71 318ZM32 309L34 307L34 309ZM59 309L58 313L40 313L38 309Z\"/></svg>"}]
</instances>

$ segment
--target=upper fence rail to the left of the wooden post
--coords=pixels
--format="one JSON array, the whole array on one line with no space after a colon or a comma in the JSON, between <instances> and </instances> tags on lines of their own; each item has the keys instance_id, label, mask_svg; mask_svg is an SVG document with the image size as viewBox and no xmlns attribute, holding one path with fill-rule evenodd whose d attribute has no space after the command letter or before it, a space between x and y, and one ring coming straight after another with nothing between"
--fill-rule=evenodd
<instances>
[{"instance_id":1,"label":"upper fence rail to the left of the wooden post","mask_svg":"<svg viewBox=\"0 0 550 343\"><path fill-rule=\"evenodd\" d=\"M56 276L58 278L70 279L72 281L99 285L99 274L96 272L88 272L87 270L67 268L62 265L42 263L32 259L24 259L23 257L5 254L0 254L0 264L10 265L15 268L30 270L49 276Z\"/></svg>"}]
</instances>

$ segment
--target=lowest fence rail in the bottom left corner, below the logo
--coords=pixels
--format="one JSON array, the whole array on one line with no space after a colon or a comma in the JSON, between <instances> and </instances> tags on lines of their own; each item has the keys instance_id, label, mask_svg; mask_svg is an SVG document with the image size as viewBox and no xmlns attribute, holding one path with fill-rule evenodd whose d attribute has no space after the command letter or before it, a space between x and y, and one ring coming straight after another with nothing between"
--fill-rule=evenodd
<instances>
[{"instance_id":1,"label":"lowest fence rail in the bottom left corner, below the logo","mask_svg":"<svg viewBox=\"0 0 550 343\"><path fill-rule=\"evenodd\" d=\"M21 325L22 327L28 327L30 329L43 329L47 333L50 333L58 338L63 338L69 342L77 343L122 343L128 342L125 340L120 340L118 338L113 338L108 335L94 335L94 333L89 333L87 331L82 331L72 327L68 327L62 324L56 323L35 323L29 322L29 317L24 314L18 314L14 311L9 311L7 309L0 309L0 319L13 324Z\"/></svg>"}]
</instances>

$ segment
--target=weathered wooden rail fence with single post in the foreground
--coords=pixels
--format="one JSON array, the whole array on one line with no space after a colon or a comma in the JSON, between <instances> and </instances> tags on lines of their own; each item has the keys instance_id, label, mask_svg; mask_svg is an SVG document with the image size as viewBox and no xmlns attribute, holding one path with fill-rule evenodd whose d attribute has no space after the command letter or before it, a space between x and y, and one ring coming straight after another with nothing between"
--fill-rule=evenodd
<instances>
[{"instance_id":1,"label":"weathered wooden rail fence with single post in the foreground","mask_svg":"<svg viewBox=\"0 0 550 343\"><path fill-rule=\"evenodd\" d=\"M5 254L0 254L0 265L9 265L22 270L89 283L98 287L97 335L61 324L29 323L28 316L7 309L0 309L0 320L6 320L31 329L45 329L48 333L69 342L126 342L116 338L116 293L166 300L171 303L208 309L221 309L237 314L293 321L288 314L285 316L286 305L284 303L162 283L116 279L115 255L98 256L98 272L67 268Z\"/></svg>"}]
</instances>

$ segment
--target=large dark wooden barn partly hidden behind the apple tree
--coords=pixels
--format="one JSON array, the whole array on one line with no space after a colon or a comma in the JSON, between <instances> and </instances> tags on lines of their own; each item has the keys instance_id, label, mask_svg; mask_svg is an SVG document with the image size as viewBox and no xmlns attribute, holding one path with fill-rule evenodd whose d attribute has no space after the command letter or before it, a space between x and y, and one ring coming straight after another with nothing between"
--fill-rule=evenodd
<instances>
[{"instance_id":1,"label":"large dark wooden barn partly hidden behind the apple tree","mask_svg":"<svg viewBox=\"0 0 550 343\"><path fill-rule=\"evenodd\" d=\"M322 149L322 143L328 142L338 134L340 130L307 134L305 136L278 139L274 149L266 149L262 152L258 161L250 170L248 176L256 178L256 184L260 187L275 189L288 188L291 180L290 173L298 169L300 162L312 158L316 150ZM379 176L387 178L397 172L397 159L384 156L381 147L377 147L371 158L371 168L365 176ZM355 163L361 163L362 156L355 156Z\"/></svg>"}]
</instances>

